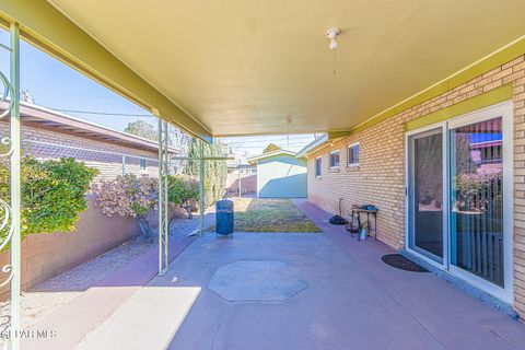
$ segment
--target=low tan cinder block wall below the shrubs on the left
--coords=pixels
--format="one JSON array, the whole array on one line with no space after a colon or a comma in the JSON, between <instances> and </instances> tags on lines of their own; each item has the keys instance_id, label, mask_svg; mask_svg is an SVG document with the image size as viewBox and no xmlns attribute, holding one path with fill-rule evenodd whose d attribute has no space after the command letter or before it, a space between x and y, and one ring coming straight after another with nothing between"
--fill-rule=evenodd
<instances>
[{"instance_id":1,"label":"low tan cinder block wall below the shrubs on the left","mask_svg":"<svg viewBox=\"0 0 525 350\"><path fill-rule=\"evenodd\" d=\"M22 241L22 291L88 261L139 234L133 218L108 218L88 201L77 231L31 234ZM0 253L0 266L8 265L10 250ZM9 283L0 288L0 301L9 299Z\"/></svg>"}]
</instances>

